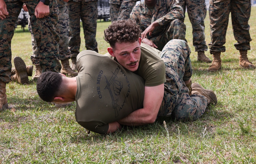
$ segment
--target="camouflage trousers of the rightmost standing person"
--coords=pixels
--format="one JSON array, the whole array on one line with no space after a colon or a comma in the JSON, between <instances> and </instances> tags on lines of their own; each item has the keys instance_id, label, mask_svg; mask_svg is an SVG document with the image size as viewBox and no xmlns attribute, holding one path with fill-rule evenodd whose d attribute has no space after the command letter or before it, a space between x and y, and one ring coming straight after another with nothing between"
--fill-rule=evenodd
<instances>
[{"instance_id":1,"label":"camouflage trousers of the rightmost standing person","mask_svg":"<svg viewBox=\"0 0 256 164\"><path fill-rule=\"evenodd\" d=\"M211 28L210 53L225 52L229 13L231 12L233 34L237 50L250 50L251 36L248 24L251 16L250 0L210 0L209 18Z\"/></svg>"}]
</instances>

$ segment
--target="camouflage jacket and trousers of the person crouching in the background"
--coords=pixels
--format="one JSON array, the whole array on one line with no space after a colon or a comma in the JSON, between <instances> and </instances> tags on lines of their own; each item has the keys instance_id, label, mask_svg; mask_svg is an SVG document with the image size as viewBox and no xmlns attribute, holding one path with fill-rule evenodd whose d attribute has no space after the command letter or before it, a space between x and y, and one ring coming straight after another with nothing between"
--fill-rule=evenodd
<instances>
[{"instance_id":1,"label":"camouflage jacket and trousers of the person crouching in the background","mask_svg":"<svg viewBox=\"0 0 256 164\"><path fill-rule=\"evenodd\" d=\"M153 12L146 7L143 1L132 9L130 18L136 20L136 24L140 26L142 31L157 21L160 26L155 27L151 36L147 34L147 38L153 41L160 51L169 40L181 39L186 41L183 8L177 0L159 0L156 2Z\"/></svg>"}]
</instances>

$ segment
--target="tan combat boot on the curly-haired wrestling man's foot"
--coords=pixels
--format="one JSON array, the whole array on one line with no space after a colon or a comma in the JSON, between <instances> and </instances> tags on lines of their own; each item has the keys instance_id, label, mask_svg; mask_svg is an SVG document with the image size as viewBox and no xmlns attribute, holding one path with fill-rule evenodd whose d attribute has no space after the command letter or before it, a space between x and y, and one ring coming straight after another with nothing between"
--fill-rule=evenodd
<instances>
[{"instance_id":1,"label":"tan combat boot on the curly-haired wrestling man's foot","mask_svg":"<svg viewBox=\"0 0 256 164\"><path fill-rule=\"evenodd\" d=\"M212 90L204 89L203 87L201 87L197 83L193 83L191 85L191 88L192 88L191 93L193 95L203 95L203 96L205 96L208 100L208 105L212 103L215 106L217 104L217 96L215 95L215 93Z\"/></svg>"}]
</instances>

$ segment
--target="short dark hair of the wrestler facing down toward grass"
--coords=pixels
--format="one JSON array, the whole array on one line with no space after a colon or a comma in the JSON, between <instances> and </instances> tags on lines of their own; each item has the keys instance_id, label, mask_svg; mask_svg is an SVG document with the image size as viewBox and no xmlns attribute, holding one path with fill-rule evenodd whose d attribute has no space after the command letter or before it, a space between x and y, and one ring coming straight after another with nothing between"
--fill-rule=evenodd
<instances>
[{"instance_id":1,"label":"short dark hair of the wrestler facing down toward grass","mask_svg":"<svg viewBox=\"0 0 256 164\"><path fill-rule=\"evenodd\" d=\"M57 72L42 73L36 83L39 97L46 102L52 102L59 92L61 82L62 75Z\"/></svg>"}]
</instances>

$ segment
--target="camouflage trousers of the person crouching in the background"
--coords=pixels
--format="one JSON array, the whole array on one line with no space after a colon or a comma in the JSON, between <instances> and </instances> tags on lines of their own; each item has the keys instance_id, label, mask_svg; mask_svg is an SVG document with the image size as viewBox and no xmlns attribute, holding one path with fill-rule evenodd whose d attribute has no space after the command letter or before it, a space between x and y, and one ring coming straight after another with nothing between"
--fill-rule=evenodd
<instances>
[{"instance_id":1,"label":"camouflage trousers of the person crouching in the background","mask_svg":"<svg viewBox=\"0 0 256 164\"><path fill-rule=\"evenodd\" d=\"M165 44L172 39L180 39L187 42L186 38L186 25L180 19L174 19L170 24L163 30L161 34L147 35L147 38L151 40L158 48L162 51Z\"/></svg>"}]
</instances>

